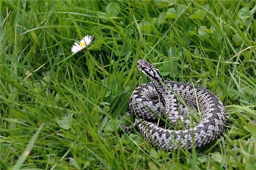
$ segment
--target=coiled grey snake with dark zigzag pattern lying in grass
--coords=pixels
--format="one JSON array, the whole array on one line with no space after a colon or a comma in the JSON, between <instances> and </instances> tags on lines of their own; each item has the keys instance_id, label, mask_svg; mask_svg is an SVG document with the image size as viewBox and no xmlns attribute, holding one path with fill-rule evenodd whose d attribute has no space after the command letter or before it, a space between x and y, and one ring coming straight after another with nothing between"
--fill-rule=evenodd
<instances>
[{"instance_id":1,"label":"coiled grey snake with dark zigzag pattern lying in grass","mask_svg":"<svg viewBox=\"0 0 256 170\"><path fill-rule=\"evenodd\" d=\"M137 68L151 82L137 87L129 99L128 114L134 117L131 126L145 139L163 150L201 148L217 139L224 130L226 115L221 100L211 91L188 83L166 81L149 62L139 59ZM191 120L191 111L198 109L198 124ZM161 126L160 122L165 122ZM170 128L166 127L166 124Z\"/></svg>"}]
</instances>

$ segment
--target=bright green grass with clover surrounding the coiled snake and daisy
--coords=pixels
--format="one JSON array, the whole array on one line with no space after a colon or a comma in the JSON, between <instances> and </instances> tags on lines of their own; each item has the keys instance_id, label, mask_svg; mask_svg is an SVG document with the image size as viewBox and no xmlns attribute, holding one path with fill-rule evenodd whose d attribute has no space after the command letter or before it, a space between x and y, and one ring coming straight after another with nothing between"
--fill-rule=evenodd
<instances>
[{"instance_id":1,"label":"bright green grass with clover surrounding the coiled snake and daisy","mask_svg":"<svg viewBox=\"0 0 256 170\"><path fill-rule=\"evenodd\" d=\"M0 1L0 169L256 169L255 1ZM87 34L87 51L72 55ZM165 79L224 103L224 133L169 152L119 124Z\"/></svg>"}]
</instances>

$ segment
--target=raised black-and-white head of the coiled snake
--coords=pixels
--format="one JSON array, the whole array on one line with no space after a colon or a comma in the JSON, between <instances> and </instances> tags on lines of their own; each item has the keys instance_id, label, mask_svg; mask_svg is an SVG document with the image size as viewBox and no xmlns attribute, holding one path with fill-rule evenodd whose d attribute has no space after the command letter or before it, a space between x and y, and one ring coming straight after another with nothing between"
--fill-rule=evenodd
<instances>
[{"instance_id":1,"label":"raised black-and-white head of the coiled snake","mask_svg":"<svg viewBox=\"0 0 256 170\"><path fill-rule=\"evenodd\" d=\"M137 62L137 67L141 72L147 75L151 80L161 81L162 77L157 68L151 65L149 62L139 59Z\"/></svg>"}]
</instances>

